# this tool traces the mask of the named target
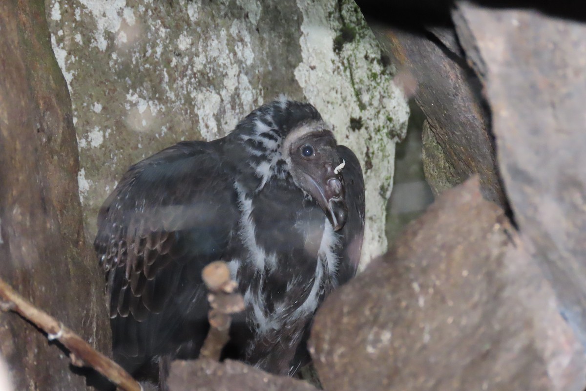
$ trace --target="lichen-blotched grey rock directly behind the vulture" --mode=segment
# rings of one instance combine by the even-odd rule
[[[313,103],[362,162],[363,260],[386,249],[384,207],[408,107],[351,0],[47,0],[69,84],[87,234],[128,166],[212,140],[284,93]]]

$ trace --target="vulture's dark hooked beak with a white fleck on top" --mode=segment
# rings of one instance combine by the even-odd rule
[[[333,229],[342,229],[348,216],[342,176],[328,175],[323,179],[315,179],[311,175],[307,177],[309,194],[318,202]]]

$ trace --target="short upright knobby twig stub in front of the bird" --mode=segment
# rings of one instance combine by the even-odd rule
[[[230,279],[230,270],[226,262],[210,263],[203,268],[202,278],[210,291],[207,300],[212,309],[207,314],[210,331],[199,355],[218,361],[224,345],[229,340],[232,322],[230,315],[244,310],[244,299],[241,294],[234,293],[236,283]]]

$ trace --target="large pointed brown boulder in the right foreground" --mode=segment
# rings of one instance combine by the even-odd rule
[[[328,297],[311,352],[326,390],[584,389],[554,293],[478,179]]]

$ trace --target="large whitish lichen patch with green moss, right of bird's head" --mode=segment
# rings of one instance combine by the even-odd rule
[[[407,102],[381,64],[380,47],[354,2],[297,4],[303,12],[303,61],[295,77],[364,171],[364,267],[387,249],[384,216],[393,186],[394,145],[407,129]]]

